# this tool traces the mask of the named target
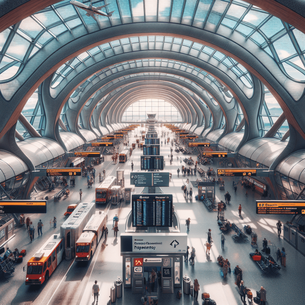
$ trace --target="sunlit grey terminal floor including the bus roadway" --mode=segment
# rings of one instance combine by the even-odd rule
[[[138,132],[139,133],[139,132]],[[133,133],[133,136],[135,133]],[[133,139],[130,139],[130,145]],[[164,142],[164,138],[163,138]],[[190,266],[189,263],[184,263],[183,274],[190,276],[192,280],[198,279],[200,285],[199,304],[201,304],[201,293],[209,292],[210,297],[216,301],[217,305],[235,305],[242,304],[237,286],[235,285],[235,275],[228,273],[226,279],[220,275],[220,267],[217,264],[217,257],[221,254],[224,258],[228,258],[231,263],[231,268],[236,265],[243,270],[243,280],[246,287],[250,288],[253,295],[256,295],[256,290],[260,286],[264,286],[267,290],[267,304],[304,304],[305,293],[304,286],[304,267],[305,257],[296,251],[292,246],[282,239],[282,235],[278,238],[276,222],[281,220],[286,222],[290,217],[278,215],[257,215],[255,211],[255,200],[261,199],[257,193],[249,192],[249,196],[245,196],[246,190],[238,185],[237,192],[234,192],[232,187],[233,178],[224,178],[225,191],[216,189],[216,196],[219,200],[224,200],[224,193],[229,191],[231,194],[231,204],[225,210],[225,218],[234,222],[243,228],[245,224],[256,231],[258,235],[259,250],[262,249],[262,240],[266,237],[275,244],[276,247],[286,249],[286,268],[279,271],[280,275],[268,274],[261,275],[262,272],[259,266],[249,257],[249,253],[253,252],[250,242],[234,242],[231,235],[232,232],[225,235],[226,241],[224,249],[221,249],[221,231],[217,225],[217,212],[210,212],[206,206],[195,200],[196,188],[193,187],[193,200],[186,200],[183,196],[181,186],[186,184],[186,179],[179,175],[177,177],[178,167],[181,170],[180,157],[185,158],[181,152],[177,154],[173,152],[174,162],[169,165],[168,154],[170,154],[170,145],[161,147],[161,155],[166,160],[165,170],[172,173],[169,187],[163,187],[164,193],[173,194],[175,212],[180,218],[181,232],[188,233],[188,246],[195,247],[196,258],[195,265]],[[115,175],[115,170],[125,169],[125,181],[129,180],[131,171],[131,160],[134,163],[134,171],[140,170],[140,156],[142,151],[135,149],[131,158],[125,164],[111,164],[111,157],[105,156],[105,162],[96,167],[96,172],[99,173],[106,168],[106,175]],[[179,160],[177,161],[177,155]],[[189,156],[187,156],[189,157]],[[196,156],[193,156],[196,159]],[[186,165],[182,161],[182,165]],[[200,166],[206,170],[207,166]],[[217,164],[210,165],[217,168]],[[181,174],[181,172],[180,172]],[[98,174],[97,174],[98,177]],[[189,177],[190,181],[200,177]],[[236,182],[236,179],[235,179]],[[35,232],[35,239],[30,243],[30,238],[26,228],[18,228],[16,236],[7,244],[10,249],[18,247],[19,249],[27,249],[27,256],[23,263],[16,265],[15,276],[9,279],[9,282],[0,283],[0,305],[7,304],[33,304],[33,305],[87,305],[92,304],[92,285],[95,280],[98,281],[100,287],[99,304],[106,304],[109,300],[110,287],[113,281],[118,277],[122,278],[122,257],[120,256],[120,233],[124,232],[125,221],[128,213],[131,210],[130,204],[122,203],[118,206],[97,206],[97,210],[108,211],[108,228],[109,234],[106,239],[102,238],[99,247],[96,250],[93,258],[88,263],[77,263],[75,261],[63,261],[54,271],[48,283],[41,287],[25,286],[26,272],[23,272],[23,266],[27,264],[27,260],[41,247],[51,234],[58,233],[59,227],[65,221],[63,213],[67,206],[71,203],[79,202],[79,188],[82,188],[82,202],[91,202],[94,200],[94,188],[99,183],[95,183],[93,188],[86,187],[86,179],[77,177],[76,187],[70,188],[70,196],[67,199],[61,199],[59,202],[54,202],[53,199],[48,200],[47,214],[33,214],[31,219],[34,224],[37,224],[39,219],[44,223],[43,236],[38,237]],[[190,187],[190,184],[188,185]],[[135,193],[140,193],[142,188],[135,188]],[[37,198],[38,199],[38,198]],[[238,215],[238,206],[242,205],[242,217]],[[119,234],[118,238],[114,239],[112,228],[112,219],[115,214],[118,214]],[[62,216],[61,216],[62,215]],[[52,228],[49,225],[49,220],[57,217],[57,228]],[[191,218],[190,230],[186,230],[185,219]],[[212,230],[213,246],[210,250],[210,256],[206,255],[204,246],[208,229]],[[283,232],[282,232],[283,234]],[[249,238],[250,239],[250,238]],[[272,251],[272,248],[271,248]],[[275,253],[271,253],[276,257]],[[193,304],[194,299],[190,296],[182,294],[180,300],[176,298],[178,289],[174,290],[174,294],[160,293],[159,304]],[[131,289],[123,289],[123,297],[117,299],[116,304],[137,305],[141,304],[140,295],[131,293]],[[247,298],[246,298],[247,300]],[[248,302],[247,302],[248,303]],[[195,302],[195,304],[197,304]]]

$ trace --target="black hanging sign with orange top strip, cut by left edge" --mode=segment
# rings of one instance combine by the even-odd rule
[[[47,213],[46,200],[2,200],[0,213]]]

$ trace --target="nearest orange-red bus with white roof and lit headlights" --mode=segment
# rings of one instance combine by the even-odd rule
[[[64,259],[64,239],[52,235],[27,262],[25,285],[41,285]]]

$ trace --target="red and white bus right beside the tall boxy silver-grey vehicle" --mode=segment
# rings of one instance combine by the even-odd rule
[[[104,234],[108,216],[102,211],[93,214],[76,241],[75,260],[90,260]]]

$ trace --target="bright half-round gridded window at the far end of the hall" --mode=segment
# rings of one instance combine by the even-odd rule
[[[124,111],[122,122],[146,120],[146,113],[156,113],[156,119],[162,122],[182,122],[178,109],[163,99],[140,99],[132,103]]]

